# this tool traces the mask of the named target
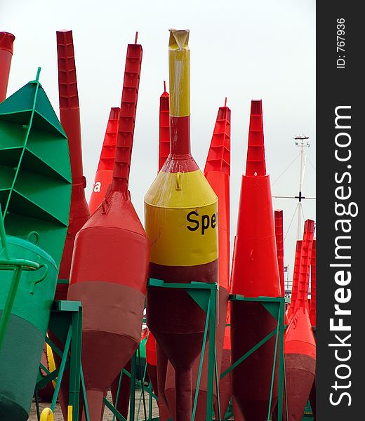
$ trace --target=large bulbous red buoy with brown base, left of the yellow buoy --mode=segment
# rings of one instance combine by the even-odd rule
[[[112,187],[77,234],[68,300],[83,305],[82,366],[90,419],[140,344],[150,244],[128,191],[142,46],[128,44]]]

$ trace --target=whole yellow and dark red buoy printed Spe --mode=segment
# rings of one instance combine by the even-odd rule
[[[218,281],[218,198],[190,152],[188,39],[189,31],[170,30],[170,154],[145,195],[150,277],[167,283]],[[175,368],[175,421],[191,420],[205,320],[185,290],[147,289],[147,325]]]

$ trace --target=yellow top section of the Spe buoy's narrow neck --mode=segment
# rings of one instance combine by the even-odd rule
[[[170,72],[170,115],[190,115],[190,48],[188,30],[170,29],[168,69]]]

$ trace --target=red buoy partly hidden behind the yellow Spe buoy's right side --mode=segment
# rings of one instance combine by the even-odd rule
[[[216,353],[218,377],[223,354],[223,340],[225,335],[225,321],[227,316],[228,291],[230,283],[230,127],[231,110],[225,104],[218,109],[217,118],[211,139],[211,145],[208,150],[204,175],[206,180],[218,196],[218,272],[219,272],[219,314],[218,326],[216,331]],[[230,351],[228,350],[228,353]],[[192,368],[192,402],[197,385],[199,373],[199,362],[197,358]],[[197,412],[195,420],[205,420],[206,417],[206,394],[208,374],[208,344],[204,352],[201,380],[199,385],[199,395],[197,401]],[[166,398],[169,408],[175,406],[175,370],[171,364],[168,364],[166,387]],[[217,392],[214,390],[215,403]]]

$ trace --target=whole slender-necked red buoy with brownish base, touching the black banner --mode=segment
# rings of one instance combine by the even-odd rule
[[[302,420],[316,367],[316,343],[307,310],[313,235],[314,221],[306,220],[300,253],[298,296],[284,342],[287,419],[293,421]]]

